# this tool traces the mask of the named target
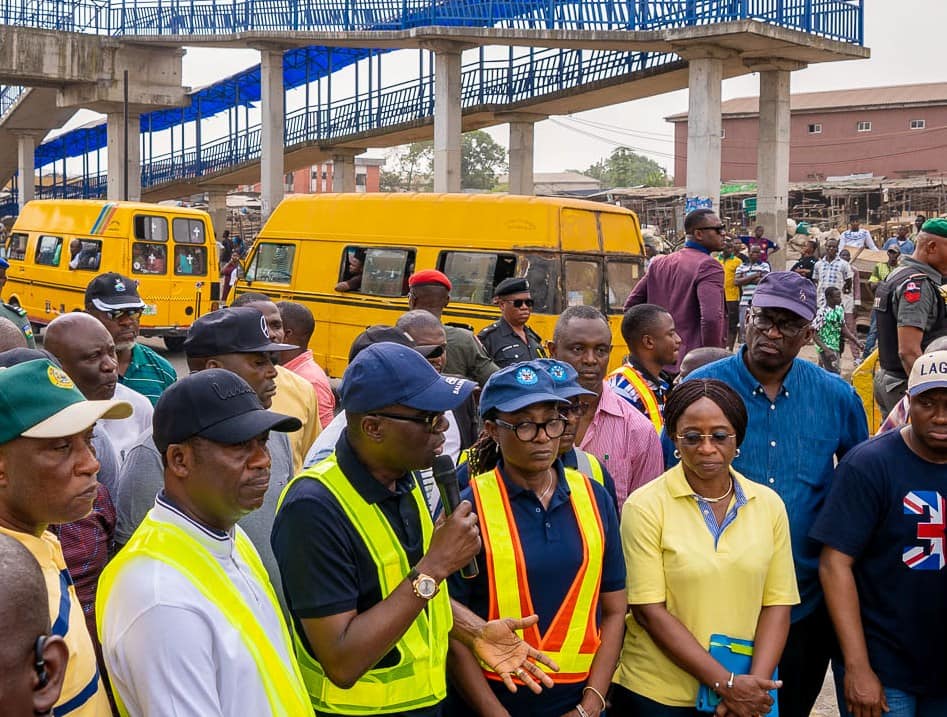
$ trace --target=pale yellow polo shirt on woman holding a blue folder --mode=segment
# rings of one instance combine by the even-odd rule
[[[782,499],[733,475],[746,503],[716,547],[680,464],[632,493],[621,514],[628,604],[665,603],[704,647],[715,633],[752,640],[763,606],[799,602]],[[626,623],[616,681],[661,704],[693,707],[697,680],[671,661],[630,612]]]

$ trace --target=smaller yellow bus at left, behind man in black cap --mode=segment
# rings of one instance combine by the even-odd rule
[[[28,202],[6,245],[7,298],[43,326],[80,311],[86,285],[115,271],[138,281],[143,336],[177,349],[191,322],[216,308],[217,244],[210,216],[138,202]],[[213,297],[212,297],[213,293]]]

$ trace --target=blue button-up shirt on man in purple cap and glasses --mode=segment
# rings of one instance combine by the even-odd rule
[[[802,596],[792,613],[798,621],[822,602],[820,547],[808,538],[809,530],[832,483],[836,458],[868,438],[868,420],[852,386],[804,359],[792,362],[776,399],[770,400],[747,368],[745,353],[743,348],[695,369],[684,380],[720,379],[746,405],[746,438],[733,467],[775,490],[786,504]]]

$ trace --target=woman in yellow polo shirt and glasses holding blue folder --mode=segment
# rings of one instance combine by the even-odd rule
[[[680,384],[664,420],[680,463],[622,510],[630,613],[612,706],[629,717],[694,715],[703,684],[719,697],[718,714],[766,714],[799,602],[786,509],[730,465],[747,413],[725,383]],[[753,642],[748,673],[710,655],[715,634]]]

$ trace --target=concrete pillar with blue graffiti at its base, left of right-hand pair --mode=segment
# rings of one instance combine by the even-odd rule
[[[720,56],[689,57],[687,198],[720,204]]]

